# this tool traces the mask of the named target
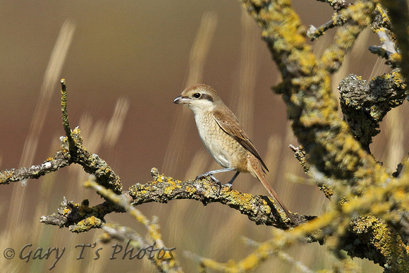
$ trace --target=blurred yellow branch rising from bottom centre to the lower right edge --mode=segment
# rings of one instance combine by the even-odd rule
[[[391,181],[386,187],[371,188],[360,198],[295,229],[274,229],[271,240],[260,244],[253,253],[238,262],[224,264],[198,257],[195,260],[200,260],[202,266],[212,269],[254,269],[268,257],[267,253],[276,253],[300,241],[318,241],[325,243],[329,250],[341,258],[341,265],[336,265],[336,268],[350,266],[340,252],[346,250],[350,257],[365,257],[378,263],[385,267],[385,272],[408,272],[408,221],[405,224],[401,220],[393,221],[408,219],[409,171],[399,179]],[[384,198],[385,196],[388,198]],[[377,217],[384,217],[386,220]],[[401,226],[397,227],[396,224]]]

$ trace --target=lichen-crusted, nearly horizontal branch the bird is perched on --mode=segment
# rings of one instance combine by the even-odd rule
[[[281,207],[266,196],[240,193],[227,186],[220,188],[218,183],[206,178],[195,181],[174,180],[159,174],[156,168],[152,169],[152,176],[154,181],[143,185],[137,183],[120,195],[89,180],[85,185],[97,190],[97,193],[107,200],[106,202],[89,207],[87,200],[82,204],[64,200],[57,213],[43,216],[40,221],[60,227],[66,226],[72,232],[83,232],[101,228],[106,214],[128,211],[147,227],[152,238],[160,240],[160,233],[157,233],[154,226],[150,226],[149,221],[139,210],[135,209],[135,206],[148,202],[166,203],[171,200],[191,199],[199,200],[204,205],[210,202],[228,205],[247,215],[256,224],[275,226],[279,229],[288,229],[293,226],[293,222],[286,217],[285,212],[281,211]],[[303,224],[315,218],[315,216],[300,214],[293,214],[293,217],[296,219],[295,224]]]

